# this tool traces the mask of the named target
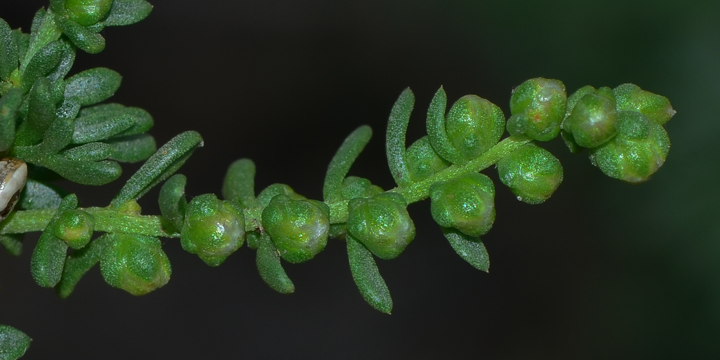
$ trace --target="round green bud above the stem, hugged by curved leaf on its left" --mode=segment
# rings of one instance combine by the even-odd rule
[[[498,143],[505,130],[505,115],[492,102],[465,95],[451,107],[445,130],[455,150],[472,160]]]

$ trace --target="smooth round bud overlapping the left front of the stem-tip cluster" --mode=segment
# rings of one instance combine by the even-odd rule
[[[562,123],[577,145],[595,148],[618,132],[613,91],[602,87],[582,96]]]

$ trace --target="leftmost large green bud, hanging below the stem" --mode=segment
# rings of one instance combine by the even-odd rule
[[[102,277],[112,287],[144,295],[168,283],[172,269],[158,238],[113,233],[100,258]]]

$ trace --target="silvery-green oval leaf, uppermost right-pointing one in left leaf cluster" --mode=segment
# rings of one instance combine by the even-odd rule
[[[109,68],[91,68],[66,80],[65,97],[86,106],[104,101],[118,88],[122,76]]]

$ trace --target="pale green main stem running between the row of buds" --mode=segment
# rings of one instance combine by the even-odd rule
[[[505,138],[482,156],[463,166],[450,166],[438,174],[423,181],[408,186],[397,186],[388,192],[397,192],[408,201],[408,204],[418,202],[428,197],[430,186],[438,181],[454,179],[464,174],[482,171],[497,163],[508,153],[528,145],[531,140],[521,138]],[[330,207],[330,223],[338,224],[348,220],[348,202],[346,200],[325,202]],[[110,207],[88,207],[82,209],[95,218],[95,230],[105,233],[128,233],[163,238],[179,238],[180,234],[165,217],[160,215],[139,215],[121,212]],[[55,209],[16,211],[6,220],[0,222],[0,234],[32,233],[42,231],[55,216]],[[251,231],[261,224],[261,207],[251,207],[245,210],[246,230]]]

